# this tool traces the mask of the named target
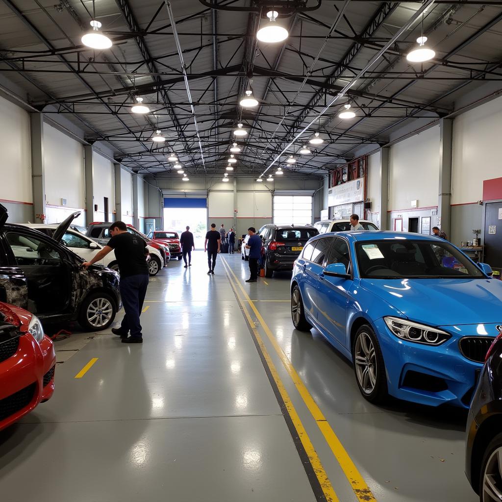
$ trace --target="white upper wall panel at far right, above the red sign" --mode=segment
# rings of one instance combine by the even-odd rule
[[[453,120],[452,204],[482,199],[483,180],[502,177],[502,97]]]

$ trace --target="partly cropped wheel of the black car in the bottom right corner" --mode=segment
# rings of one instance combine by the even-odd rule
[[[480,502],[502,500],[502,433],[486,447],[479,474]]]

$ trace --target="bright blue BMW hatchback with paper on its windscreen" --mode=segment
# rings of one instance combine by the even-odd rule
[[[502,281],[448,241],[416,233],[313,237],[295,262],[293,324],[353,362],[370,402],[467,408],[502,326]]]

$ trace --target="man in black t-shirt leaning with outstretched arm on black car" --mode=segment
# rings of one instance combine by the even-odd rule
[[[124,315],[119,328],[112,328],[112,333],[120,335],[122,343],[143,343],[140,315],[148,287],[148,264],[146,261],[146,242],[136,233],[129,233],[123,221],[110,225],[111,239],[90,262],[87,268],[102,260],[110,251],[115,250],[115,258],[120,272],[120,296]],[[131,336],[128,338],[128,333]]]

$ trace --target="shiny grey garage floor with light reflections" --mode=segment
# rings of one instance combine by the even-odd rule
[[[173,262],[151,280],[143,345],[97,334],[57,366],[51,401],[0,433],[2,500],[316,500],[251,323],[333,500],[476,500],[463,473],[464,411],[368,404],[350,364],[315,330],[293,329],[291,274],[245,284],[239,254],[221,255],[214,276],[201,252],[193,264]],[[293,382],[294,370],[303,384]],[[325,439],[326,426],[341,447]],[[352,489],[351,465],[369,495]]]

